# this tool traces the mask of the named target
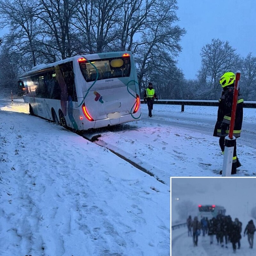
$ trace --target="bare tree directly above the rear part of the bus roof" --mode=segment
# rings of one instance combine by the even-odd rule
[[[76,21],[81,42],[87,43],[89,53],[113,51],[117,38],[116,24],[121,20],[124,0],[79,0]]]

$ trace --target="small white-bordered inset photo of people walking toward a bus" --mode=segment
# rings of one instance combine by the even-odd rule
[[[254,256],[255,195],[255,178],[171,178],[171,256]]]

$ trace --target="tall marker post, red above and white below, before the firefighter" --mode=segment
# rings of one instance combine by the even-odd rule
[[[235,125],[235,117],[236,117],[236,104],[237,104],[240,75],[241,75],[241,71],[237,70],[232,111],[231,111],[231,120],[229,125],[229,133],[228,133],[228,136],[225,137],[225,150],[224,150],[224,160],[223,160],[223,167],[222,167],[222,176],[224,177],[231,176],[233,153],[234,153],[234,147],[236,144],[236,137],[233,136],[233,132],[234,132],[234,125]]]

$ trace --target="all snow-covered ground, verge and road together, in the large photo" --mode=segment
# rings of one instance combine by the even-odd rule
[[[142,104],[91,142],[22,101],[0,100],[0,255],[170,255],[170,176],[220,176],[217,108],[156,104],[150,118]],[[244,109],[234,176],[256,173],[255,117]]]

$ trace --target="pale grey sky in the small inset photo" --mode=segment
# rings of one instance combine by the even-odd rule
[[[252,207],[256,206],[252,196],[255,194],[255,178],[172,178],[172,206],[187,200],[196,205],[221,205],[232,219],[248,221]]]

